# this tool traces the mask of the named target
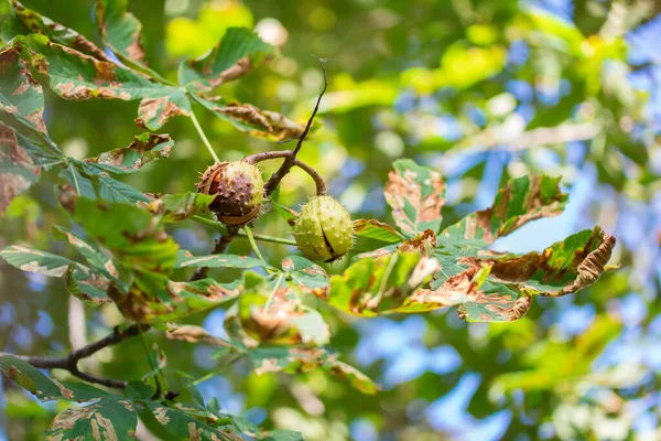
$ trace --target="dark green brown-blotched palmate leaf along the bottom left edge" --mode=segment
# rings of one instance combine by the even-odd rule
[[[145,388],[140,381],[131,381],[127,396],[123,396],[85,383],[57,381],[17,357],[0,356],[0,370],[42,401],[90,401],[57,415],[46,433],[51,440],[133,440],[138,416],[144,421],[147,413],[149,421],[161,424],[158,428],[165,431],[167,439],[234,441],[256,435],[260,440],[301,439],[296,432],[267,432],[240,418],[235,420],[231,416],[216,415],[206,409],[204,402],[169,407],[153,401],[148,394],[153,389]]]

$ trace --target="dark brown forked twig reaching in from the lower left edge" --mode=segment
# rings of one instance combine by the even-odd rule
[[[0,353],[0,356],[12,356],[15,358],[20,358],[23,362],[31,364],[34,367],[39,367],[42,369],[64,369],[68,370],[69,374],[84,379],[85,381],[96,383],[107,387],[113,387],[118,389],[123,389],[127,387],[127,381],[121,379],[113,378],[101,378],[91,374],[87,374],[80,372],[78,369],[78,362],[83,358],[87,358],[97,352],[108,347],[113,346],[122,341],[133,337],[140,333],[141,330],[148,330],[149,325],[145,324],[134,324],[127,327],[124,331],[120,331],[119,327],[115,329],[112,334],[106,335],[104,338],[98,340],[94,343],[90,343],[86,346],[80,347],[79,349],[75,349],[68,353],[68,355],[64,357],[45,357],[45,356],[29,356],[29,355],[13,355],[13,354],[4,354]]]

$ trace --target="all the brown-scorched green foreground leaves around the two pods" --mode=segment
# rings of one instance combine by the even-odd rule
[[[0,50],[0,110],[20,128],[0,123],[0,208],[35,183],[42,170],[58,168],[63,184],[56,189],[57,197],[85,235],[65,227],[58,232],[85,262],[22,245],[0,255],[24,271],[62,278],[68,292],[90,306],[112,303],[127,320],[151,324],[171,338],[213,343],[223,359],[247,356],[258,374],[318,368],[373,394],[378,387],[371,379],[323,347],[329,342],[329,329],[305,304],[305,295],[367,318],[455,306],[466,320],[501,322],[522,316],[532,295],[576,292],[604,271],[615,239],[598,227],[543,252],[489,249],[497,238],[528,222],[562,212],[567,197],[559,179],[512,180],[491,207],[442,228],[445,183],[436,171],[410,160],[394,163],[384,189],[399,230],[376,219],[356,220],[356,234],[370,250],[356,255],[340,275],[328,275],[327,268],[300,256],[275,267],[261,258],[194,256],[181,249],[165,224],[204,212],[213,196],[148,195],[111,176],[167,158],[174,141],[167,135],[145,132],[129,147],[97,158],[68,158],[48,137],[43,90],[35,76],[43,76],[65,99],[139,99],[137,123],[149,130],[160,129],[174,116],[193,117],[192,103],[197,103],[250,135],[282,140],[299,135],[301,127],[282,115],[210,96],[216,86],[246,75],[273,50],[248,30],[230,29],[210,53],[183,63],[174,85],[147,67],[141,25],[126,11],[126,1],[99,0],[96,17],[104,44],[120,63],[83,35],[17,1],[2,28],[3,39],[10,41]],[[291,220],[291,212],[277,212]],[[243,275],[230,283],[173,277],[175,269],[201,267],[242,269]],[[228,340],[173,324],[230,304]],[[155,391],[142,381],[130,383],[126,395],[117,395],[48,379],[19,358],[3,357],[0,363],[6,375],[40,399],[95,401],[58,416],[52,427],[54,439],[98,438],[106,432],[123,437],[134,430],[138,417],[180,439],[232,439],[238,433],[293,437],[263,432],[197,398],[186,405],[154,400]]]

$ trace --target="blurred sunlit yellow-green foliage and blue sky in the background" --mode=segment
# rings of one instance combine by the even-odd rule
[[[24,3],[96,35],[90,0]],[[173,79],[182,58],[205,53],[227,28],[254,28],[281,54],[219,92],[301,122],[323,86],[311,55],[328,58],[323,125],[300,158],[355,217],[389,216],[382,186],[391,162],[413,158],[447,180],[444,225],[489,205],[510,178],[563,176],[565,213],[529,224],[495,249],[541,250],[594,224],[619,240],[611,260],[618,271],[577,295],[540,299],[511,324],[467,324],[446,310],[354,319],[318,302],[334,335],[329,347],[382,385],[375,396],[318,372],[256,376],[239,363],[201,385],[205,398],[254,422],[300,430],[306,440],[661,438],[659,2],[142,0],[130,9],[143,23],[151,67]],[[133,115],[134,103],[65,101],[46,93],[48,131],[74,158],[126,146],[140,132]],[[225,159],[269,149],[212,115],[201,114],[201,122]],[[128,182],[143,192],[193,191],[212,158],[187,118],[162,131],[176,141],[170,159]],[[312,195],[307,180],[290,174],[281,202]],[[0,248],[29,239],[68,252],[51,234],[65,218],[52,182],[42,180],[9,207]],[[272,214],[260,229],[288,234]],[[212,230],[193,223],[171,233],[199,254],[213,240]],[[229,251],[250,249],[235,240]],[[263,251],[279,261],[292,249],[264,244]],[[1,265],[3,352],[65,349],[121,320],[111,309],[84,309],[57,280]],[[223,336],[223,315],[188,321]],[[161,344],[178,369],[199,376],[216,367],[212,347]],[[137,378],[149,369],[136,356],[139,345],[126,342],[90,363],[108,376]],[[3,387],[0,439],[41,439],[64,405]]]

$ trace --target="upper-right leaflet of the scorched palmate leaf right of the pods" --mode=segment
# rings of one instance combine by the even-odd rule
[[[560,178],[521,176],[500,189],[494,205],[475,212],[438,235],[446,246],[485,247],[531,220],[560,215],[567,195],[559,186]]]

